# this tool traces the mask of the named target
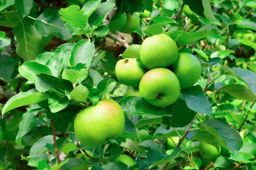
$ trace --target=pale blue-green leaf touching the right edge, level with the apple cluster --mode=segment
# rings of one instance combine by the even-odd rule
[[[244,82],[256,95],[256,73],[243,68],[229,68],[227,65],[221,65],[221,74],[228,74]]]

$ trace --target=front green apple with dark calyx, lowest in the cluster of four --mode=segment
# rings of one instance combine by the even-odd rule
[[[165,107],[180,96],[180,84],[175,74],[167,68],[155,68],[140,80],[140,95],[151,105]]]

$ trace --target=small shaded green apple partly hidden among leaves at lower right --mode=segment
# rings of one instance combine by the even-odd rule
[[[217,150],[216,147],[203,141],[200,141],[199,149],[201,150],[203,156],[208,159],[216,159],[221,154],[221,147],[219,150]]]

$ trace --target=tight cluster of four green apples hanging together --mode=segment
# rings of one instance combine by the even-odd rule
[[[139,87],[141,97],[156,107],[174,103],[180,88],[192,87],[201,76],[201,64],[190,53],[178,53],[166,34],[146,38],[140,48],[140,65],[134,58],[116,63],[116,77],[128,86]]]

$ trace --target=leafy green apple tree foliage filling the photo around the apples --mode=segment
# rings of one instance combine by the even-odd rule
[[[111,33],[125,11],[140,26]],[[140,44],[155,34],[202,65],[165,108],[128,96],[114,72],[121,58],[141,64]],[[255,36],[254,0],[1,0],[0,170],[256,170]],[[74,118],[105,98],[121,105],[125,130],[85,147]],[[200,142],[218,157],[205,160]]]

